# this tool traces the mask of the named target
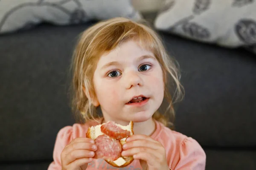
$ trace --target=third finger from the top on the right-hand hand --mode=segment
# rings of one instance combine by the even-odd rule
[[[133,147],[128,150],[123,150],[121,154],[122,156],[133,156],[140,152],[146,152],[148,154],[155,155],[155,156],[160,155],[160,153],[158,153],[156,150],[151,149],[149,147]]]

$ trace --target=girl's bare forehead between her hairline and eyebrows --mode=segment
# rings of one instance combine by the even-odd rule
[[[144,55],[151,55],[154,57],[154,54],[151,51],[142,48],[136,41],[129,40],[121,43],[112,51],[102,55],[98,65],[104,65],[106,62],[112,61],[129,62]]]

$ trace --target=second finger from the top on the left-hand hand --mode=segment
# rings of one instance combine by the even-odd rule
[[[96,151],[97,145],[88,143],[88,142],[71,143],[67,147],[64,148],[64,154],[69,153],[71,150],[80,150],[80,149]]]

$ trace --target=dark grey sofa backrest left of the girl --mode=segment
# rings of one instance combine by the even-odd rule
[[[79,32],[40,26],[0,37],[0,160],[51,159],[56,134],[75,121],[68,69]]]

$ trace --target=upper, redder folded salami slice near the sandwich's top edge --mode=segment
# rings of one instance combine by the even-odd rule
[[[131,136],[131,132],[128,130],[123,130],[121,127],[115,125],[114,122],[107,122],[100,127],[102,133],[110,136],[114,139],[120,140]]]

